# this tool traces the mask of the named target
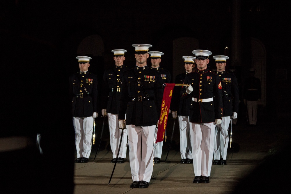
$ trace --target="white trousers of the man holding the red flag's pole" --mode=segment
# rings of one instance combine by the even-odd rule
[[[213,159],[215,123],[192,123],[191,145],[195,176],[209,177]]]

